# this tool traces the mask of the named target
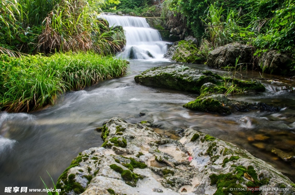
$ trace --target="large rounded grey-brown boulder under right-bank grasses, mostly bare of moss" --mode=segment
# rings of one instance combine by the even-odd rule
[[[252,56],[251,46],[240,43],[230,43],[213,49],[208,54],[207,65],[217,68],[235,66],[236,59],[238,58],[239,61],[237,64],[245,63],[245,65],[248,66],[252,62]]]

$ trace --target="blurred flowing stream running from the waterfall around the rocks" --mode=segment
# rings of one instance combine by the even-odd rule
[[[122,18],[120,24],[124,21],[127,24],[128,19],[137,25],[137,19],[131,16],[112,17],[117,17],[114,20],[116,22]],[[112,18],[106,16],[106,19],[112,24]],[[138,20],[145,24],[142,18]],[[156,32],[148,26],[145,30],[146,33]],[[129,30],[127,33],[130,33]],[[100,82],[85,90],[68,92],[58,98],[55,105],[40,111],[0,113],[0,194],[4,192],[4,187],[41,189],[43,184],[40,176],[52,187],[46,171],[56,182],[79,152],[101,146],[103,141],[100,133],[94,129],[114,116],[122,117],[130,123],[149,120],[161,125],[155,129],[156,132],[173,139],[179,139],[176,133],[178,128],[195,128],[246,149],[295,180],[294,164],[284,162],[271,153],[272,148],[278,148],[295,155],[295,101],[293,90],[290,90],[295,87],[294,81],[263,74],[264,78],[280,80],[261,80],[266,86],[265,92],[230,96],[248,102],[278,104],[283,108],[278,113],[239,112],[223,116],[191,111],[182,105],[194,100],[197,94],[145,87],[135,83],[134,76],[140,72],[173,63],[162,59],[165,42],[157,39],[158,41],[133,43],[131,38],[127,36],[124,52],[129,46],[136,45],[139,49],[148,50],[156,56],[155,59],[147,58],[145,53],[140,52],[140,56],[144,56],[146,60],[130,60],[129,73],[123,77]],[[154,47],[159,50],[153,50]],[[211,70],[219,75],[226,73],[224,70],[210,69],[206,65],[186,66]],[[260,77],[259,72],[254,71],[240,73],[243,76]],[[146,115],[140,116],[140,112]]]

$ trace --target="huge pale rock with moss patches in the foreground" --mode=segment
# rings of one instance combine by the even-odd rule
[[[106,141],[116,136],[118,126],[124,128],[126,149],[134,155],[119,156],[112,148],[102,147],[79,153],[58,179],[61,195],[237,194],[235,188],[247,192],[253,186],[288,188],[259,191],[263,195],[295,193],[294,184],[266,162],[197,130],[184,130],[176,141],[161,138],[150,128],[152,123],[130,124],[112,118],[104,127]],[[152,166],[155,160],[162,166]]]

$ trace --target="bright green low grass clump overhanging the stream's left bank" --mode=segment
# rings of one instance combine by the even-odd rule
[[[0,59],[0,107],[9,112],[29,112],[54,104],[57,95],[121,76],[128,67],[125,60],[93,52],[50,57],[1,55]]]

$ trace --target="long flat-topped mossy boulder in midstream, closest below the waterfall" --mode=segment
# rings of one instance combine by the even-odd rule
[[[189,92],[200,92],[204,83],[221,85],[222,77],[211,71],[195,70],[181,65],[150,68],[135,76],[135,82],[155,87],[164,87]]]

